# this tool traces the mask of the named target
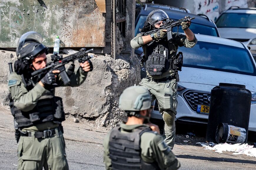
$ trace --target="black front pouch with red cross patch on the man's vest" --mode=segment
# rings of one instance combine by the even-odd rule
[[[170,63],[164,54],[151,54],[146,62],[146,70],[150,75],[162,75],[168,71]]]

